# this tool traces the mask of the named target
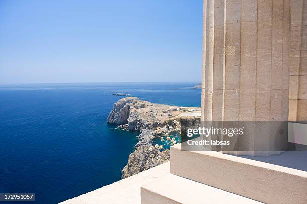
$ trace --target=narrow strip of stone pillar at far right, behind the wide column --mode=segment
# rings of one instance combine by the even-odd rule
[[[307,123],[307,0],[291,0],[289,120]]]

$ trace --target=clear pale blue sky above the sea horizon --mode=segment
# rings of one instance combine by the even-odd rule
[[[202,0],[0,0],[0,84],[200,81]]]

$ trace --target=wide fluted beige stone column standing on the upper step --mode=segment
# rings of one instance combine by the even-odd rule
[[[288,120],[289,18],[290,0],[204,0],[202,121]],[[235,154],[287,145],[264,129],[247,128],[251,151]]]

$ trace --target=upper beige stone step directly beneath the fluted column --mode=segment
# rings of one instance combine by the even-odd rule
[[[261,159],[265,162],[259,161]],[[307,172],[297,169],[303,169],[306,161],[306,152],[292,159],[287,152],[248,159],[216,151],[182,151],[181,144],[177,144],[171,148],[170,171],[174,175],[264,203],[305,204]],[[300,162],[301,165],[293,169],[275,165],[278,162],[286,166],[291,166],[291,162]]]

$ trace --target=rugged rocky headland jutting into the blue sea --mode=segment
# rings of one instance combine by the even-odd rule
[[[135,175],[169,160],[170,150],[152,144],[153,140],[175,131],[180,131],[180,114],[200,111],[198,107],[178,107],[150,103],[136,97],[118,100],[110,112],[107,122],[119,128],[139,132],[138,143],[122,170],[122,178]],[[173,142],[173,141],[172,141]]]

